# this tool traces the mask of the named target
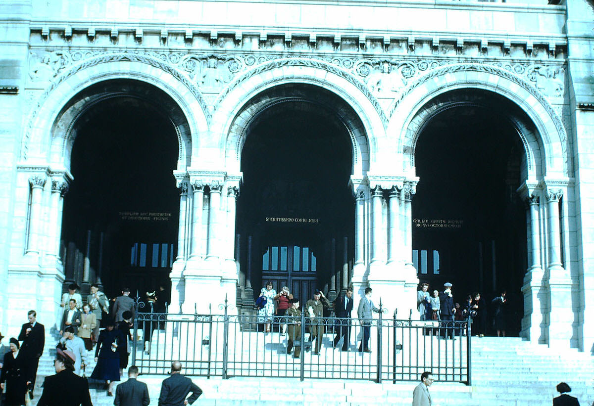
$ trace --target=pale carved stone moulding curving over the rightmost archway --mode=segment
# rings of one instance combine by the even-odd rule
[[[414,154],[417,128],[413,120],[432,99],[451,90],[480,89],[496,93],[510,100],[523,110],[536,128],[534,132],[523,132],[522,141],[526,148],[526,162],[529,177],[539,175],[566,176],[567,159],[565,141],[567,134],[561,119],[551,104],[535,87],[522,78],[495,66],[459,64],[443,66],[428,72],[407,87],[394,100],[390,108],[388,134],[397,137],[397,150],[405,156]],[[404,157],[409,164],[411,157]],[[540,158],[540,161],[538,161]],[[409,167],[405,170],[410,170]]]

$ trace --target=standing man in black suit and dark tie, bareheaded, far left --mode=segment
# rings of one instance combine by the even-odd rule
[[[39,358],[43,354],[43,345],[45,345],[45,328],[43,328],[42,324],[37,323],[37,312],[35,310],[29,310],[27,318],[29,323],[24,323],[21,327],[18,341],[23,341],[20,352],[25,359],[27,383],[30,388],[33,388],[37,377]]]

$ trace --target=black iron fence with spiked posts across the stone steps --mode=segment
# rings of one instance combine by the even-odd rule
[[[470,385],[469,321],[138,313],[132,364],[165,374],[182,361],[189,376],[416,381],[425,370],[440,381]],[[381,308],[381,307],[380,307]],[[271,332],[264,331],[270,322]],[[346,340],[346,344],[345,344]],[[368,342],[368,344],[365,344]]]

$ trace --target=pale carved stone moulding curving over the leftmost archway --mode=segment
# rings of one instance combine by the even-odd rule
[[[173,100],[184,115],[188,127],[178,131],[181,138],[181,163],[185,166],[186,158],[193,157],[193,151],[197,150],[198,134],[208,132],[210,113],[200,91],[184,74],[165,62],[128,53],[87,59],[56,78],[31,109],[29,126],[21,145],[21,160],[33,158],[47,160],[52,166],[64,166],[65,137],[69,135],[68,131],[53,131],[56,124],[68,109],[71,110],[69,115],[80,116],[80,112],[72,111],[72,106],[65,109],[77,94],[91,85],[109,80],[131,80],[153,85]],[[115,96],[114,93],[112,97]],[[78,107],[83,110],[88,106]],[[70,125],[68,123],[66,128]],[[191,150],[188,150],[189,146]]]

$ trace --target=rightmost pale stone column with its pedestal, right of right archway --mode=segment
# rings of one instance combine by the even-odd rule
[[[549,242],[549,345],[569,348],[573,335],[573,298],[571,277],[561,264],[561,236],[559,226],[560,188],[547,188],[548,242]]]

